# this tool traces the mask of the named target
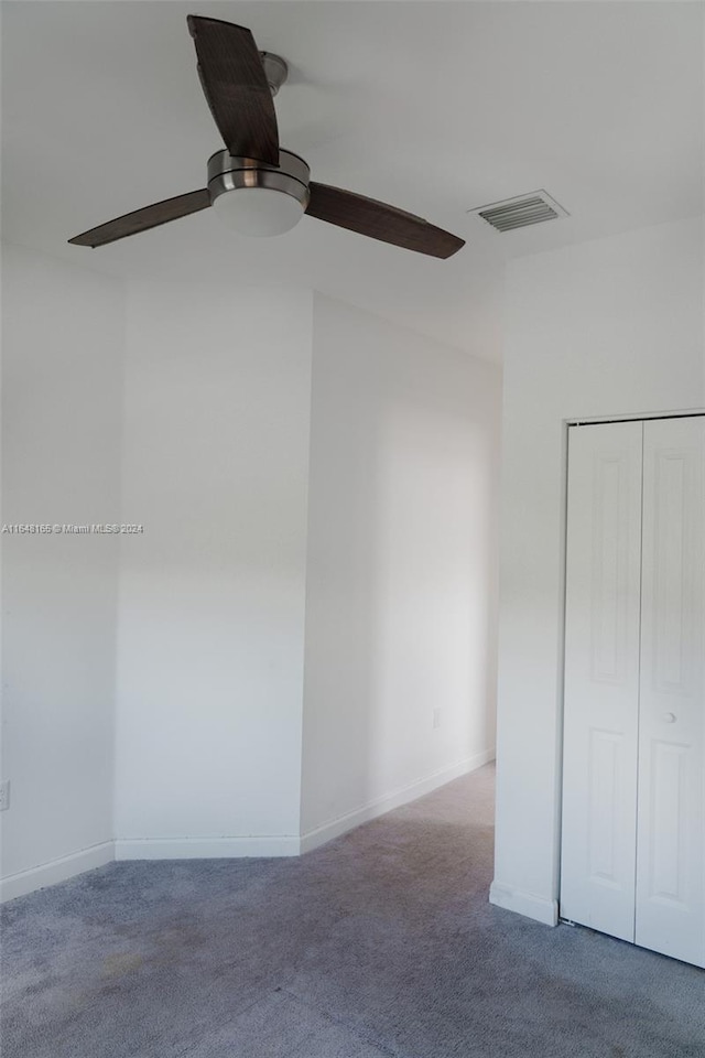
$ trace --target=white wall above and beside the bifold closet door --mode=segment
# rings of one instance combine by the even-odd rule
[[[495,879],[544,920],[558,871],[562,421],[703,406],[703,281],[699,220],[508,271]]]

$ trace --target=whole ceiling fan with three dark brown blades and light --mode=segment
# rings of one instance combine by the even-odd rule
[[[284,60],[259,52],[241,25],[194,14],[187,22],[200,85],[226,144],[208,159],[207,187],[135,209],[69,242],[105,246],[214,206],[247,235],[281,235],[305,213],[431,257],[448,258],[465,245],[412,213],[312,181],[303,158],[279,145],[272,97],[286,79]]]

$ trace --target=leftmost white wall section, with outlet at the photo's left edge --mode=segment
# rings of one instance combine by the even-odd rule
[[[122,284],[14,246],[2,264],[3,523],[118,522]],[[52,532],[0,542],[8,876],[112,838],[119,541]]]

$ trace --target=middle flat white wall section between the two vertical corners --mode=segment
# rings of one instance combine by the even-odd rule
[[[118,854],[299,834],[311,319],[299,290],[129,288]]]

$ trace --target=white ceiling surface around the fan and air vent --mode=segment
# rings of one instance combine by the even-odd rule
[[[499,356],[507,258],[703,210],[702,3],[7,2],[3,238],[126,277],[301,283]],[[247,239],[212,210],[101,249],[66,239],[205,186],[223,145],[186,14],[281,53],[282,145],[313,179],[467,239],[447,261],[306,218]],[[567,219],[499,235],[467,210],[543,187]]]

